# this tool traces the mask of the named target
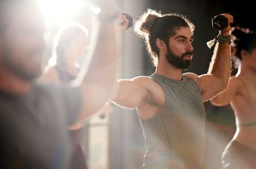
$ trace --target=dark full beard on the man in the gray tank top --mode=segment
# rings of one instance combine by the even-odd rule
[[[167,48],[167,54],[165,55],[167,61],[178,69],[187,70],[191,65],[191,60],[184,60],[185,56],[192,55],[193,52],[186,52],[182,56],[177,56],[171,52],[170,48]]]

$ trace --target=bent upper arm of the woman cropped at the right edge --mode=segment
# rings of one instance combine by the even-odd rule
[[[218,95],[214,96],[210,101],[212,105],[216,106],[223,106],[228,105],[231,100],[233,100],[234,96],[238,91],[238,81],[235,78],[231,78],[229,80],[229,85],[227,89],[223,92],[219,93]]]

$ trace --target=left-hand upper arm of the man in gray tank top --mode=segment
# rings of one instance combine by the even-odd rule
[[[113,100],[117,105],[134,109],[139,107],[143,100],[147,98],[147,90],[139,81],[132,80],[119,80],[118,81],[117,96]]]

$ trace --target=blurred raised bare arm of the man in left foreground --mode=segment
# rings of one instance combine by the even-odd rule
[[[101,4],[104,7],[104,17],[118,16],[115,10],[111,10],[109,3]],[[107,11],[106,11],[107,10]],[[103,18],[104,19],[104,18]],[[103,20],[101,18],[101,20]],[[116,20],[104,20],[100,25],[98,41],[89,68],[83,77],[79,87],[83,95],[83,104],[78,121],[93,115],[104,104],[115,96],[117,91],[117,72],[119,64],[119,44],[117,36],[118,24]]]

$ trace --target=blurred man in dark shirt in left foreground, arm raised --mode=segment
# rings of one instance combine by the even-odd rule
[[[94,115],[116,92],[118,12],[111,4],[99,3],[102,24],[86,74],[70,85],[51,85],[37,81],[45,50],[38,4],[0,1],[0,168],[70,168],[67,128]]]

